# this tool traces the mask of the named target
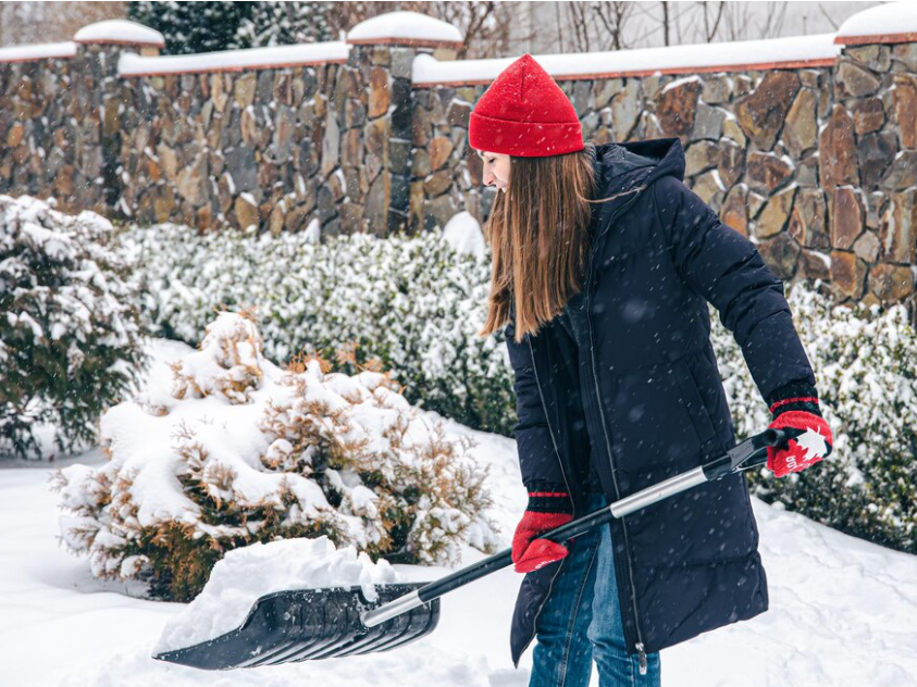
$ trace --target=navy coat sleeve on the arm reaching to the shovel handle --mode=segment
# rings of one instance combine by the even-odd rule
[[[814,389],[815,375],[793,325],[783,282],[755,245],[723,224],[680,179],[665,176],[654,187],[677,271],[719,311],[765,401],[770,404],[786,388]]]

